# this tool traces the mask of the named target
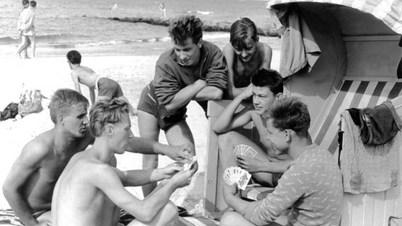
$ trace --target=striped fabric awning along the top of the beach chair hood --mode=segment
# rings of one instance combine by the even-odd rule
[[[292,2],[309,2],[306,0],[270,0],[267,8],[277,4]],[[360,11],[370,13],[398,34],[402,34],[402,1],[401,0],[311,0],[314,3],[339,4],[356,8]]]

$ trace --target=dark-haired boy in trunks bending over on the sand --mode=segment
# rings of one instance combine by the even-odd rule
[[[95,89],[98,90],[98,100],[110,100],[113,98],[121,98],[129,103],[130,112],[134,115],[137,114],[136,110],[130,105],[130,102],[124,96],[122,88],[119,83],[113,79],[104,76],[98,76],[92,69],[81,66],[81,54],[76,50],[71,50],[67,53],[67,62],[69,63],[71,71],[71,78],[74,82],[76,91],[81,93],[81,84],[88,86],[89,97],[91,104],[95,104]]]

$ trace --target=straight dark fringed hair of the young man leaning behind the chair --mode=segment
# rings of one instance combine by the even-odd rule
[[[235,49],[246,49],[248,42],[257,42],[257,28],[249,18],[240,18],[230,27],[229,42]]]

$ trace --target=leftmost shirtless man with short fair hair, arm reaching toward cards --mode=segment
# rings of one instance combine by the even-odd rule
[[[54,128],[28,142],[8,172],[3,194],[24,225],[49,225],[54,185],[67,162],[94,138],[88,131],[88,100],[74,90],[57,90],[50,101]],[[189,158],[190,147],[168,146],[144,138],[130,139],[130,152]]]

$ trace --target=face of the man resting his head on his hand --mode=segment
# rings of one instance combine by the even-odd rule
[[[272,93],[268,86],[260,87],[253,85],[253,105],[255,113],[262,115],[268,111],[276,100],[276,95]]]

